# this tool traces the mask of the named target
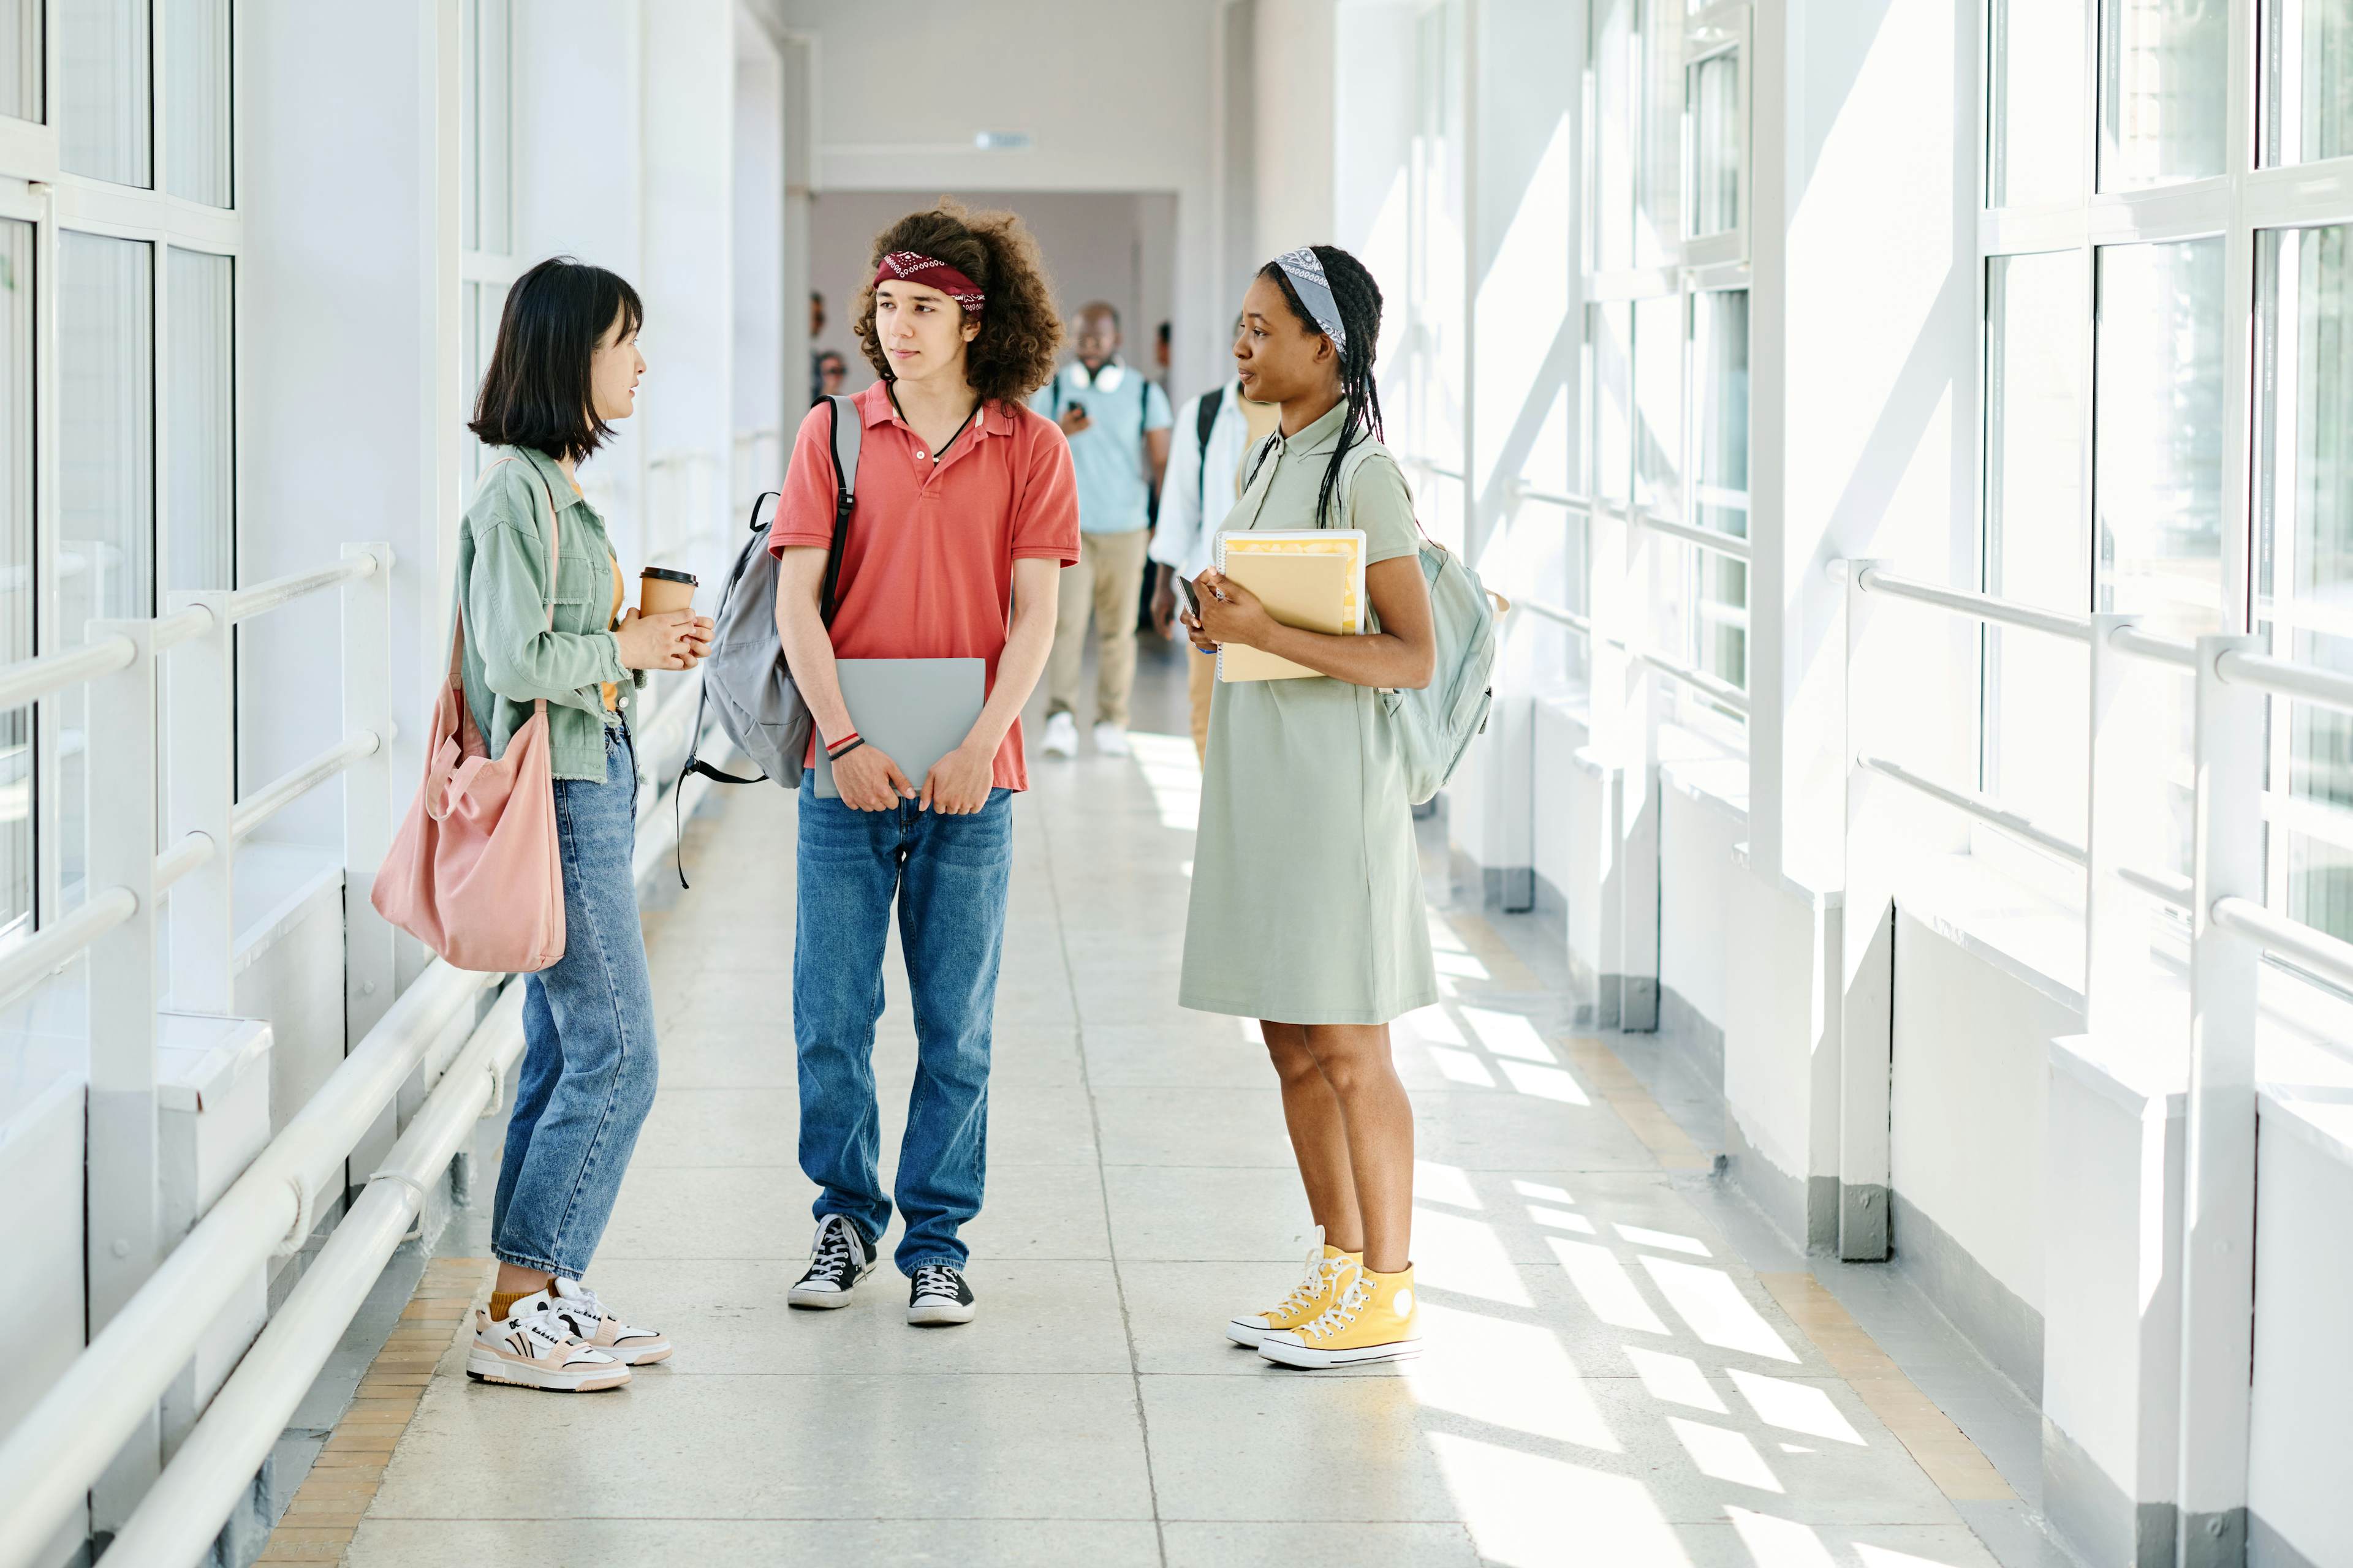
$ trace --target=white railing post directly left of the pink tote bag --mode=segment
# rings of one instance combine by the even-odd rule
[[[344,733],[376,750],[344,769],[344,1039],[367,1039],[393,1004],[393,929],[367,900],[393,844],[393,545],[344,545],[376,569],[344,583]]]

